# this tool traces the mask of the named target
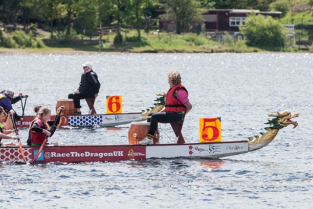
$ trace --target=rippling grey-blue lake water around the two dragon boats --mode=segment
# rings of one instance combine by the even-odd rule
[[[0,163],[0,208],[313,207],[313,54],[0,55],[0,89],[27,93],[26,115],[37,104],[55,113],[57,99],[77,89],[87,61],[102,85],[98,113],[106,112],[107,95],[122,95],[123,112],[152,107],[156,93],[169,88],[166,72],[179,71],[193,104],[186,142],[199,141],[200,117],[222,118],[223,141],[265,131],[273,111],[299,112],[299,125],[282,129],[263,149],[221,160]],[[83,100],[82,106],[86,114]],[[22,114],[21,102],[13,108]],[[128,143],[128,128],[70,128],[50,140]],[[167,124],[160,135],[161,142],[174,140]],[[26,144],[27,129],[20,136]]]

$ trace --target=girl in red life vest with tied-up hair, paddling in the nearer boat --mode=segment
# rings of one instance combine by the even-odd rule
[[[61,109],[64,109],[64,106],[58,108],[57,114],[61,111]],[[41,146],[46,137],[52,137],[54,134],[57,126],[51,127],[50,129],[50,121],[48,121],[50,120],[50,117],[51,110],[47,106],[43,106],[38,110],[37,118],[35,118],[30,124],[31,146]],[[52,124],[53,122],[54,121],[52,120]],[[56,124],[59,124],[59,122],[60,121],[56,121]]]

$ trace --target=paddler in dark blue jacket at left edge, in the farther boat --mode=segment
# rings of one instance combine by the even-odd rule
[[[27,97],[28,97],[27,94],[14,97],[13,89],[1,91],[0,107],[3,107],[3,109],[8,113],[9,111],[13,110],[12,104],[15,104],[18,101],[20,101],[22,98],[27,98]],[[21,121],[23,120],[23,117],[19,116],[16,112],[14,112],[14,118],[17,120],[21,120]]]

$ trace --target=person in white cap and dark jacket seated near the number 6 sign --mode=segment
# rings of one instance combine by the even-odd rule
[[[98,96],[100,89],[100,82],[97,74],[92,70],[93,65],[91,62],[82,64],[84,72],[82,73],[79,88],[77,92],[68,94],[69,99],[74,100],[76,111],[72,115],[82,115],[80,111],[81,99],[95,99]]]

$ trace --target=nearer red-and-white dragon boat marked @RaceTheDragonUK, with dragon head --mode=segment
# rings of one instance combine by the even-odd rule
[[[165,143],[158,144],[155,140],[153,145],[139,145],[135,133],[129,133],[129,144],[77,144],[66,145],[62,142],[55,142],[44,146],[40,153],[39,147],[22,146],[26,162],[33,162],[34,156],[38,158],[34,161],[42,162],[113,162],[122,160],[142,160],[150,158],[208,158],[219,159],[223,157],[244,154],[261,149],[268,145],[277,135],[279,130],[288,125],[296,128],[298,123],[291,119],[299,116],[295,112],[289,111],[274,112],[268,114],[269,126],[265,128],[266,133],[260,133],[260,136],[238,141],[220,141],[220,142],[199,142],[199,143]],[[145,126],[145,123],[143,126]],[[155,134],[156,138],[158,134]],[[131,140],[131,138],[136,138]],[[1,146],[0,161],[22,162],[22,154],[19,146]]]

